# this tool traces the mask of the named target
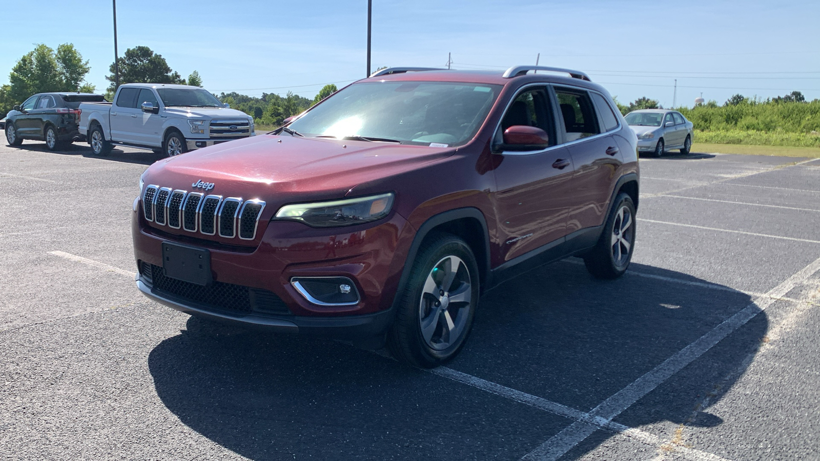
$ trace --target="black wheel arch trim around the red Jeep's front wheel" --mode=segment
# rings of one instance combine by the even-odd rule
[[[413,237],[412,244],[410,244],[410,249],[407,253],[407,258],[404,260],[404,267],[402,268],[402,276],[399,278],[399,285],[396,293],[393,297],[393,310],[395,311],[396,304],[399,302],[401,298],[400,294],[404,285],[407,285],[408,278],[410,277],[410,271],[412,269],[412,263],[416,261],[416,255],[418,253],[419,247],[421,247],[421,242],[423,242],[427,235],[430,235],[430,232],[434,230],[436,227],[441,226],[443,224],[447,224],[448,222],[458,221],[460,219],[469,218],[475,219],[478,221],[479,225],[481,226],[482,238],[481,241],[484,243],[484,248],[481,249],[484,253],[484,258],[479,260],[478,256],[476,255],[476,249],[473,249],[473,254],[476,256],[476,263],[479,266],[479,286],[481,288],[480,292],[484,292],[485,282],[488,280],[490,276],[490,232],[487,230],[487,221],[484,216],[484,213],[481,212],[478,208],[456,208],[454,210],[448,210],[446,212],[441,212],[437,215],[434,215],[424,221],[424,224],[419,226],[418,230],[416,231],[416,236]]]

